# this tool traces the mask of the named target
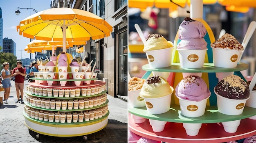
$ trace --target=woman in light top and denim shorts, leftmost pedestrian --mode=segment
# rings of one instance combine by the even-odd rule
[[[9,63],[4,62],[3,64],[3,69],[1,70],[1,74],[2,74],[2,85],[4,88],[4,104],[9,104],[7,102],[9,96],[10,96],[10,89],[11,89],[11,80],[10,77],[16,76],[17,73],[11,74],[11,72],[9,71]]]

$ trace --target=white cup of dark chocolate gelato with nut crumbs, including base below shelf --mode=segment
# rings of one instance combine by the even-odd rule
[[[214,88],[217,95],[218,111],[226,115],[240,115],[249,99],[247,83],[236,75],[226,76]],[[240,120],[222,122],[226,132],[236,132]]]

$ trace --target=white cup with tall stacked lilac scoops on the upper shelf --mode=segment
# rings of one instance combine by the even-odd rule
[[[180,66],[182,68],[201,68],[207,51],[204,40],[206,28],[204,24],[186,17],[179,27],[180,43],[177,44]]]

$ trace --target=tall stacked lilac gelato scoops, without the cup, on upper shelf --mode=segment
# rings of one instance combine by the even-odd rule
[[[179,27],[179,39],[181,39],[181,41],[177,44],[177,49],[207,49],[207,43],[204,40],[206,32],[204,24],[190,17],[186,17]]]

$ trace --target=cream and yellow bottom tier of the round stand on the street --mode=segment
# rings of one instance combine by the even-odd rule
[[[55,123],[32,119],[23,112],[25,125],[34,132],[54,137],[77,137],[98,132],[108,125],[109,112],[101,118],[77,123]]]

